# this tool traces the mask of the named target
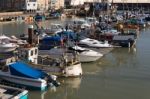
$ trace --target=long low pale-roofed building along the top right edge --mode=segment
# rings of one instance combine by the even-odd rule
[[[78,6],[82,4],[93,4],[93,3],[107,3],[115,4],[118,9],[139,9],[144,8],[150,10],[150,0],[66,0],[66,3],[70,3],[71,6]],[[68,4],[67,4],[68,5]]]

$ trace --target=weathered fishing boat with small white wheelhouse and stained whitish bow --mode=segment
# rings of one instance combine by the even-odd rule
[[[55,53],[55,52],[54,52]],[[76,56],[68,59],[66,53],[58,55],[61,58],[45,54],[39,54],[38,47],[20,48],[18,51],[19,58],[28,62],[32,67],[41,69],[48,74],[54,74],[65,77],[76,77],[82,75],[81,63],[76,59]]]

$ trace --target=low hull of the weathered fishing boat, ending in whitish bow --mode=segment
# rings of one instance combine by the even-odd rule
[[[48,66],[42,64],[32,64],[34,68],[41,69],[48,74],[55,74],[63,77],[78,77],[82,75],[81,63],[70,64],[67,66]]]

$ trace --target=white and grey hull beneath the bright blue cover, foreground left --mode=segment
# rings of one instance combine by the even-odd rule
[[[23,85],[28,88],[45,90],[47,88],[47,82],[42,79],[31,79],[19,76],[13,76],[5,72],[0,71],[0,78],[8,82]]]

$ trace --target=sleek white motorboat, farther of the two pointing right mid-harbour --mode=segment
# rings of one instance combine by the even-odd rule
[[[113,45],[109,44],[107,41],[101,42],[95,39],[85,38],[79,41],[79,45],[85,47],[94,47],[94,48],[110,48]]]

